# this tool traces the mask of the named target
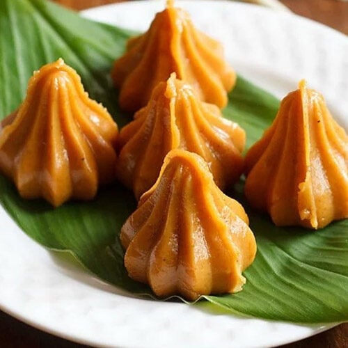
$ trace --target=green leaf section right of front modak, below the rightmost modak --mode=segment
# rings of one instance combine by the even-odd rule
[[[291,322],[347,320],[347,221],[308,232],[277,228],[248,212],[258,257],[244,272],[242,292],[205,296],[208,301],[255,317]]]

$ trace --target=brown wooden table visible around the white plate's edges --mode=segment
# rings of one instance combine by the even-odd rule
[[[120,0],[55,0],[75,10]],[[315,19],[348,35],[348,3],[337,0],[281,0],[294,13]],[[86,347],[54,335],[49,335],[0,311],[0,347]],[[306,340],[282,346],[283,348],[344,348],[348,347],[348,324],[319,333]]]

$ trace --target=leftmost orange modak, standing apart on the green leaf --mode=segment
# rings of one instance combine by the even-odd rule
[[[33,74],[24,102],[1,122],[0,171],[23,198],[88,200],[115,177],[117,136],[106,109],[59,59]]]

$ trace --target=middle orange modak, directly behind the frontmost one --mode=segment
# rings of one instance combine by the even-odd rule
[[[139,198],[155,184],[166,154],[184,148],[207,161],[223,189],[244,171],[245,137],[237,123],[223,118],[216,105],[201,102],[193,88],[173,73],[121,129],[118,178]]]

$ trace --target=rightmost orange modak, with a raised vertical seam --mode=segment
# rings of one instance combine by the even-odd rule
[[[323,228],[348,217],[347,168],[347,134],[303,80],[246,155],[246,198],[277,226]]]

